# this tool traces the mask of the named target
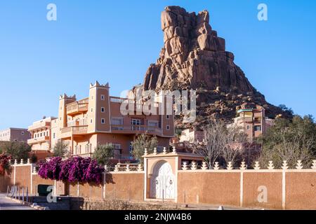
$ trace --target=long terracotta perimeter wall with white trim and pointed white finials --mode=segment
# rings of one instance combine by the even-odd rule
[[[39,184],[52,185],[58,182],[41,179],[32,164],[13,165],[11,176],[0,176],[0,191],[8,186],[28,188],[34,195]],[[176,198],[178,204],[212,204],[233,207],[265,209],[316,209],[316,161],[311,169],[303,169],[298,162],[296,169],[207,169],[196,164],[183,164],[176,169]],[[150,183],[147,183],[149,188]],[[143,202],[145,198],[145,172],[143,167],[116,167],[114,172],[105,172],[103,183],[65,183],[65,194],[86,197],[89,200],[130,200]],[[57,194],[59,191],[57,190]],[[145,198],[145,199],[144,199]]]

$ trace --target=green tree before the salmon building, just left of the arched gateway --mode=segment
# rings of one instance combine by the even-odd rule
[[[147,148],[148,153],[152,153],[154,148],[158,145],[157,137],[151,137],[147,134],[141,134],[131,143],[133,147],[133,157],[136,158],[140,163],[144,163],[143,155],[145,153],[145,148]]]

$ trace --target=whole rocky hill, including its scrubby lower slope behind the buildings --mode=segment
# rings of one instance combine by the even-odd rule
[[[225,50],[225,39],[209,25],[208,11],[187,13],[168,6],[161,19],[164,47],[145,74],[143,90],[197,90],[197,122],[192,125],[198,127],[209,118],[235,118],[236,106],[243,102],[264,106],[270,118],[291,116],[268,104],[251,85],[232,52]]]

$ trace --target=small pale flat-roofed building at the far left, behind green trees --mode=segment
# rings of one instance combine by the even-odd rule
[[[0,131],[0,141],[24,141],[30,138],[27,129],[10,127]]]

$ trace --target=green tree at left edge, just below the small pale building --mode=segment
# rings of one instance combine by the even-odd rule
[[[12,160],[26,161],[29,158],[29,152],[32,151],[31,147],[25,142],[20,141],[6,141],[0,146],[0,154],[5,153],[11,155]]]

